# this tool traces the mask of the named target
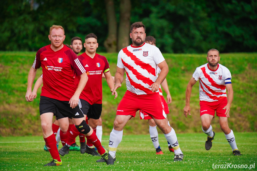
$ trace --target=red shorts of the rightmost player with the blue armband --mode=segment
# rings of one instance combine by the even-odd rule
[[[208,102],[200,101],[200,116],[203,114],[210,114],[214,116],[216,111],[216,116],[226,117],[226,109],[223,109],[227,105],[227,98],[222,98],[219,101]]]

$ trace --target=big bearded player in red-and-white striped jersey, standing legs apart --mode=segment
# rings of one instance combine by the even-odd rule
[[[130,27],[132,44],[123,48],[118,54],[115,87],[121,87],[126,71],[127,92],[123,96],[116,112],[113,130],[110,133],[109,153],[116,159],[116,150],[122,140],[123,128],[131,117],[135,117],[138,110],[148,113],[175,151],[174,161],[182,161],[177,136],[166,120],[164,106],[158,93],[160,84],[165,79],[169,68],[161,51],[153,45],[144,43],[146,34],[142,22],[135,22]],[[157,66],[161,69],[157,76]],[[101,159],[100,159],[101,160]]]

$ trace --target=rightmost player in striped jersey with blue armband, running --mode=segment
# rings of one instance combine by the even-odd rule
[[[228,117],[230,106],[233,100],[233,88],[231,84],[231,73],[225,66],[219,64],[219,51],[210,49],[207,52],[208,63],[196,68],[193,77],[186,87],[186,106],[184,114],[190,114],[190,95],[193,85],[199,80],[200,92],[200,117],[202,130],[207,134],[205,149],[210,150],[215,132],[212,130],[211,120],[219,117],[219,125],[224,132],[234,156],[241,156],[236,146],[236,140],[233,131],[228,127]],[[226,93],[228,90],[228,95]]]

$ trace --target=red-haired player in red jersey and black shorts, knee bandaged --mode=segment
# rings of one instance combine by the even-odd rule
[[[113,164],[112,157],[107,150],[102,148],[93,129],[85,123],[84,114],[78,106],[80,93],[88,80],[85,68],[81,65],[76,54],[63,44],[65,33],[62,26],[53,25],[50,28],[48,38],[51,44],[38,50],[35,61],[29,70],[28,87],[25,96],[27,101],[33,100],[32,84],[37,69],[42,67],[44,84],[39,111],[43,138],[53,158],[53,161],[44,166],[62,165],[52,131],[52,118],[56,113],[56,109],[64,116],[72,117],[76,128],[94,142],[93,144],[107,164]],[[74,73],[81,77],[77,88],[74,85]]]

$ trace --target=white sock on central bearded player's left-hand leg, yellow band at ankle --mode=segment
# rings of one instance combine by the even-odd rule
[[[122,131],[116,131],[112,130],[110,133],[110,140],[109,140],[109,154],[114,158],[118,145],[122,141],[122,135],[123,135],[123,130]]]

